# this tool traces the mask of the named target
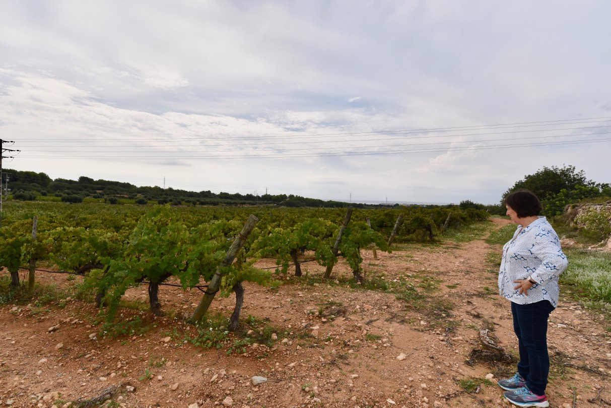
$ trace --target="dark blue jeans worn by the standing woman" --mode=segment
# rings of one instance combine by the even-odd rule
[[[511,302],[513,330],[518,336],[520,351],[518,373],[526,380],[526,387],[536,395],[544,395],[547,385],[547,318],[553,310],[549,301],[525,305]]]

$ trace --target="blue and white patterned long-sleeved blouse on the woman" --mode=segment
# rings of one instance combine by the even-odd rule
[[[566,266],[568,260],[556,231],[546,217],[538,217],[524,229],[518,226],[513,239],[503,246],[499,293],[521,305],[545,300],[556,307],[560,296],[558,278]],[[529,276],[538,283],[528,290],[528,296],[519,294],[513,281]]]

